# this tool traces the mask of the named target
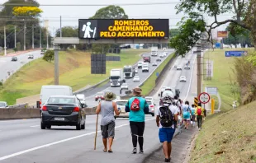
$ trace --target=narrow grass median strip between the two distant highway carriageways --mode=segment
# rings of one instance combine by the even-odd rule
[[[155,80],[156,80],[156,72],[162,72],[162,70],[164,69],[164,67],[166,66],[166,64],[168,63],[168,61],[173,58],[174,53],[173,54],[169,54],[168,58],[166,58],[164,60],[164,62],[159,65],[158,68],[156,68],[154,70],[154,72],[152,73],[152,75],[148,78],[147,81],[145,81],[144,85],[141,86],[141,89],[143,91],[143,95],[149,95],[149,92],[152,91],[154,89],[155,86]]]

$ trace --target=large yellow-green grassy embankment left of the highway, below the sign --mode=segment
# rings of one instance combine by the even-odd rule
[[[71,86],[73,91],[95,85],[109,77],[112,68],[136,63],[145,50],[124,50],[121,54],[111,54],[121,56],[121,62],[107,62],[107,74],[102,75],[91,74],[91,54],[72,50],[59,52],[59,85]],[[54,84],[54,70],[54,63],[47,63],[42,58],[26,64],[4,83],[0,100],[13,105],[17,98],[39,94],[41,86]]]

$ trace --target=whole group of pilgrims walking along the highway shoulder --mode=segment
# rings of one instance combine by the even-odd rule
[[[140,87],[133,89],[133,97],[128,100],[126,104],[126,112],[130,112],[130,133],[132,137],[132,154],[136,154],[138,151],[140,154],[144,153],[144,131],[145,131],[145,114],[149,113],[149,105],[145,98],[141,96]],[[112,100],[116,99],[116,95],[113,92],[107,92],[105,100],[97,106],[96,113],[102,113],[101,130],[102,130],[102,142],[104,145],[103,151],[113,152],[111,145],[115,137],[115,118],[114,113],[119,115],[120,112],[117,109],[116,103]],[[159,106],[156,112],[156,124],[159,127],[159,141],[163,143],[163,150],[165,162],[170,162],[172,151],[172,139],[173,135],[178,128],[178,132],[181,133],[181,127],[187,130],[191,125],[195,126],[197,120],[197,126],[201,129],[201,122],[205,116],[205,110],[201,107],[201,104],[189,105],[188,101],[183,101],[174,96],[174,99],[163,93],[162,104]],[[107,147],[108,140],[108,147]],[[137,143],[139,142],[140,149],[137,149]]]

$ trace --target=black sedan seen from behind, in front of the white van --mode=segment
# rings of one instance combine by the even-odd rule
[[[76,126],[80,130],[85,128],[85,119],[85,110],[77,97],[54,95],[42,106],[40,127]]]

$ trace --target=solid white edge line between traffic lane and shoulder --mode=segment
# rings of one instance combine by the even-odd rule
[[[153,120],[153,119],[147,119],[147,120],[145,120],[145,122],[146,122],[146,121],[149,121],[149,120]],[[121,127],[128,126],[128,125],[130,125],[130,123],[126,123],[126,124],[122,124],[122,125],[120,125],[120,126],[116,126],[116,128],[121,128]],[[49,143],[49,144],[45,144],[45,145],[42,145],[42,146],[39,146],[39,147],[33,147],[33,148],[31,148],[31,149],[27,149],[27,150],[24,150],[24,151],[18,151],[18,152],[16,152],[16,153],[11,154],[11,155],[7,155],[7,156],[2,156],[2,157],[0,157],[0,161],[6,160],[6,159],[8,159],[8,158],[12,158],[12,157],[14,157],[14,156],[22,155],[22,154],[27,153],[27,152],[30,152],[30,151],[36,151],[36,150],[41,149],[41,148],[44,148],[44,147],[50,147],[50,146],[59,144],[59,143],[61,143],[61,142],[68,142],[68,141],[73,140],[73,139],[77,139],[77,138],[80,138],[80,137],[85,137],[85,136],[88,136],[88,135],[92,135],[92,134],[94,134],[94,133],[96,133],[96,132],[85,133],[85,134],[82,134],[82,135],[78,135],[78,136],[76,136],[76,137],[69,137],[69,138],[66,138],[66,139],[63,139],[63,140],[60,140],[60,141],[57,141],[57,142],[51,142],[51,143]],[[101,130],[98,130],[97,133],[101,133]]]

